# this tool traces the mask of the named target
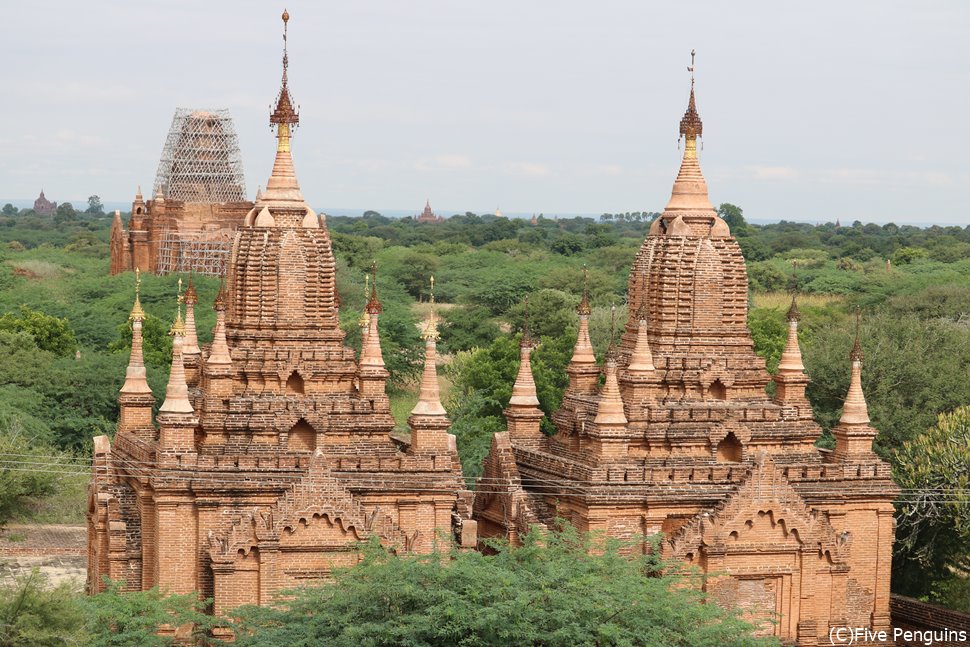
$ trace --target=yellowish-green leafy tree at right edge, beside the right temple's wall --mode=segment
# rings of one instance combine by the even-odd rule
[[[942,413],[895,453],[897,504],[893,579],[911,595],[970,569],[970,406]],[[970,599],[963,601],[970,612]]]

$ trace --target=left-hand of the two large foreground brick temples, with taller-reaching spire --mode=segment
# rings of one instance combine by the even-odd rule
[[[438,397],[433,311],[410,438],[391,435],[376,272],[360,357],[343,343],[330,235],[291,156],[288,20],[272,173],[236,232],[211,344],[198,344],[191,282],[180,296],[154,419],[136,287],[117,432],[94,440],[91,592],[108,577],[126,590],[198,592],[224,614],[326,578],[369,538],[417,553],[440,539],[476,545]]]

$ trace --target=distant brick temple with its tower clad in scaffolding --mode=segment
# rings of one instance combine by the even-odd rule
[[[127,226],[115,212],[111,274],[224,275],[233,234],[253,208],[228,110],[176,110],[153,193],[145,200],[138,188]]]

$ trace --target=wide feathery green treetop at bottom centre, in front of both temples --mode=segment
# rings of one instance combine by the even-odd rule
[[[643,539],[640,538],[642,543]],[[654,545],[656,542],[654,542]],[[533,530],[495,554],[397,556],[369,543],[335,581],[236,611],[239,647],[777,645],[653,551]]]

